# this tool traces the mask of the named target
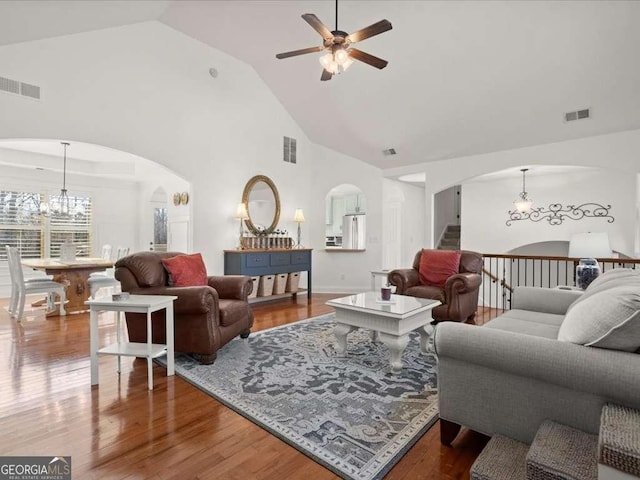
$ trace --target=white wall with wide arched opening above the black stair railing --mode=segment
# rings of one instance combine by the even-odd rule
[[[385,170],[385,176],[393,177],[423,171],[426,173],[425,183],[425,242],[432,245],[434,238],[433,226],[433,196],[446,188],[456,184],[463,184],[467,180],[491,172],[507,168],[535,165],[578,165],[588,167],[606,167],[609,170],[617,170],[636,178],[640,173],[640,130],[599,135],[595,137],[570,140],[566,142],[536,145],[533,147],[493,152],[483,155],[473,155],[437,162],[424,163],[420,166],[401,167]],[[615,184],[598,182],[600,189],[618,189]],[[509,188],[509,195],[513,196],[513,186]],[[532,186],[533,188],[533,186]],[[529,186],[527,186],[529,190]],[[519,190],[516,190],[516,194]],[[637,194],[636,194],[637,195]],[[465,191],[462,192],[464,202]],[[640,209],[640,197],[635,197],[636,209]],[[510,202],[513,198],[510,197]],[[634,238],[626,240],[635,244],[634,256],[640,256],[638,236],[638,214],[633,220],[635,229]],[[462,212],[462,231],[465,224],[471,220],[465,212]],[[491,231],[485,231],[484,235],[494,238]],[[464,233],[463,233],[464,237]],[[462,247],[467,248],[470,239],[463,239]],[[491,251],[496,252],[496,248]]]

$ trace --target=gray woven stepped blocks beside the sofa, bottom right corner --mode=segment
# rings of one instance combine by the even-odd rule
[[[495,435],[471,466],[471,480],[624,480],[640,478],[640,412],[602,409],[591,435],[551,420],[531,445]]]

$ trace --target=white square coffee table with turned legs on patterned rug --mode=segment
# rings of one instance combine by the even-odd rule
[[[367,328],[374,332],[373,340],[377,337],[389,347],[391,369],[400,372],[409,332],[420,334],[420,349],[427,352],[429,332],[425,327],[433,321],[431,310],[440,302],[405,295],[391,295],[390,302],[382,302],[378,292],[365,292],[329,300],[327,305],[336,309],[334,334],[339,353],[347,350],[349,332]]]

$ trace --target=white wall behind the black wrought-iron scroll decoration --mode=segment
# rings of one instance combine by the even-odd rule
[[[544,241],[569,241],[573,233],[607,232],[611,247],[633,255],[635,238],[635,176],[610,169],[585,169],[569,173],[536,175],[535,167],[527,175],[527,191],[534,207],[548,208],[550,203],[581,205],[596,202],[611,205],[615,218],[585,217],[566,219],[560,225],[546,220],[514,221],[506,225],[507,212],[522,190],[520,179],[477,181],[462,186],[463,228],[461,242],[465,249],[483,253],[503,253],[521,245]]]

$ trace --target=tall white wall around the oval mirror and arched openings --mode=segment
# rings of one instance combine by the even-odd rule
[[[278,187],[280,228],[295,232],[294,211],[304,209],[318,289],[360,289],[368,270],[379,268],[380,170],[310,142],[250,66],[157,22],[3,46],[0,65],[3,76],[42,88],[41,101],[0,95],[2,138],[104,145],[190,182],[192,247],[210,273],[223,272],[223,250],[236,245],[233,215],[257,174]],[[282,160],[285,135],[297,139],[297,164]],[[324,199],[340,183],[367,196],[365,253],[323,251]],[[345,280],[335,272],[346,272]]]

